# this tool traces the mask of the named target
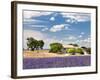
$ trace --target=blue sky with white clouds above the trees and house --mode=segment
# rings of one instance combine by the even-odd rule
[[[55,11],[23,11],[23,46],[27,37],[44,40],[44,48],[52,42],[77,43],[90,47],[91,14]]]

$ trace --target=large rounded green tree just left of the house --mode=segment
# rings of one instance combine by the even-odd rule
[[[63,46],[61,43],[51,43],[50,44],[50,52],[53,53],[61,53]]]

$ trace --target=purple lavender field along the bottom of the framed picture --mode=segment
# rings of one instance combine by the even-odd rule
[[[90,66],[90,56],[68,56],[53,58],[24,58],[23,69],[60,68]]]

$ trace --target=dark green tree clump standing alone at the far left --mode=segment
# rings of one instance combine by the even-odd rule
[[[40,50],[43,49],[44,41],[43,40],[36,40],[32,37],[27,38],[27,47],[28,50]]]

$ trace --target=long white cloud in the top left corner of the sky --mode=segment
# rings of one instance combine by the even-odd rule
[[[52,12],[40,12],[40,11],[24,11],[24,18],[37,17],[41,15],[50,15]]]

